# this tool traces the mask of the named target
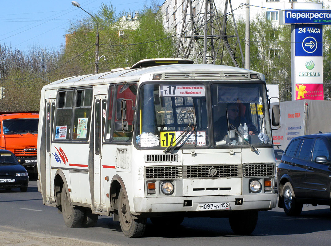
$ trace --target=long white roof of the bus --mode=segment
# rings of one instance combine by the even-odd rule
[[[243,80],[250,79],[250,74],[259,74],[259,79],[264,80],[263,74],[243,68],[210,64],[169,64],[72,76],[45,85],[43,89],[119,81],[148,81],[151,79],[151,74],[163,74],[162,79],[166,80]],[[141,80],[142,77],[145,80]]]

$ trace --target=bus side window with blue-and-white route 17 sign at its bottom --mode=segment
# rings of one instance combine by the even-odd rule
[[[73,90],[59,91],[55,114],[54,140],[70,138]]]

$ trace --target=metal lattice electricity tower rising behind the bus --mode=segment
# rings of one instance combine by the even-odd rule
[[[198,6],[199,12],[196,10]],[[227,28],[228,25],[231,28]],[[214,0],[201,0],[196,6],[192,5],[192,0],[186,0],[180,33],[177,58],[222,64],[226,50],[235,67],[244,67],[245,59],[230,0],[225,0],[223,15],[218,14]]]

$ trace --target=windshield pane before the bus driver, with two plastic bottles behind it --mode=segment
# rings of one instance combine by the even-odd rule
[[[216,146],[247,144],[240,140],[243,138],[238,133],[240,123],[248,128],[245,139],[250,144],[272,143],[266,92],[262,84],[215,83],[211,86],[211,99]]]

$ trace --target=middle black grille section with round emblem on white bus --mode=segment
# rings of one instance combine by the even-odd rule
[[[183,168],[184,178],[241,177],[239,165],[194,165]]]

